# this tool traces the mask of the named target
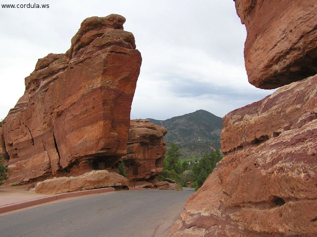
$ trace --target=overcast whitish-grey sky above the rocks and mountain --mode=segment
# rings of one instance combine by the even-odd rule
[[[30,1],[2,0],[1,4]],[[271,94],[248,83],[245,26],[233,0],[37,0],[47,9],[0,8],[0,119],[24,93],[38,58],[65,53],[80,23],[126,18],[142,54],[131,119],[167,119],[205,109],[223,117]]]

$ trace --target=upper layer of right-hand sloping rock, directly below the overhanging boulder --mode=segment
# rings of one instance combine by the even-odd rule
[[[317,118],[317,76],[284,86],[264,99],[223,117],[221,151],[257,146]]]

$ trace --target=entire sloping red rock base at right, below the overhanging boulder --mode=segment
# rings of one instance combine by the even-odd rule
[[[316,236],[316,98],[317,75],[226,115],[226,155],[172,236]]]

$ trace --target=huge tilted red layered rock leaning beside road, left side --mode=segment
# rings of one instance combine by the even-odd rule
[[[125,18],[84,20],[65,54],[39,59],[3,120],[8,183],[83,174],[126,154],[141,54]]]

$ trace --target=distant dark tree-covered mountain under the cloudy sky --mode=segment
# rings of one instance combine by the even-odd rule
[[[203,154],[213,148],[220,149],[222,118],[206,110],[200,109],[166,120],[149,120],[167,129],[164,140],[168,145],[175,142],[181,146],[183,158]]]

